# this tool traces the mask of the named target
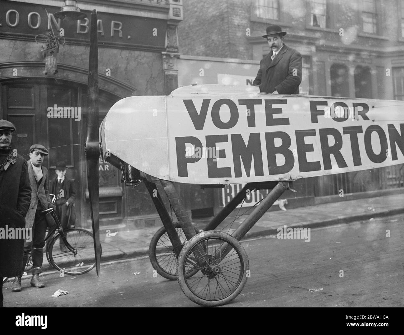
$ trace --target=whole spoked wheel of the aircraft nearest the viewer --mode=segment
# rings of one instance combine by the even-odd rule
[[[228,253],[220,256],[218,251],[226,247]],[[205,255],[202,248],[206,248]],[[190,267],[201,271],[187,278]],[[207,231],[185,243],[178,256],[177,275],[181,290],[190,300],[202,306],[220,306],[240,294],[248,269],[247,253],[238,240],[225,232]]]

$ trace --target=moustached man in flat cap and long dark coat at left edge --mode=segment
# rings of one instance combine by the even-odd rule
[[[25,215],[31,201],[27,161],[11,148],[14,131],[14,124],[0,120],[0,227],[8,232],[25,227]],[[21,273],[23,250],[24,238],[0,238],[1,285],[3,277]],[[2,292],[0,306],[3,306]]]

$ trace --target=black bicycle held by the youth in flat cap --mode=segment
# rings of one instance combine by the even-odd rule
[[[55,203],[55,194],[50,194]],[[93,234],[81,228],[65,228],[52,208],[41,211],[52,215],[56,225],[51,227],[45,237],[46,258],[50,265],[67,275],[82,275],[95,267]],[[101,250],[101,246],[100,246]],[[29,253],[25,271],[32,269],[32,257]],[[3,278],[3,283],[7,281]]]

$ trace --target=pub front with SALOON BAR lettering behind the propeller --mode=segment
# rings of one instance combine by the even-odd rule
[[[23,157],[33,143],[49,149],[50,178],[56,162],[65,161],[78,190],[76,225],[90,227],[84,155],[90,12],[98,13],[101,122],[119,99],[177,87],[182,0],[79,1],[87,17],[77,21],[55,17],[62,5],[1,0],[0,118],[15,124],[13,147]],[[101,225],[144,225],[157,216],[145,187],[124,188],[120,171],[101,159],[99,186]]]

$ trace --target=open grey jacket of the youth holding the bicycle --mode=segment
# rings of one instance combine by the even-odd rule
[[[25,227],[32,228],[35,220],[36,207],[38,206],[38,199],[42,205],[43,209],[48,209],[48,204],[50,202],[49,191],[48,191],[48,169],[41,165],[42,169],[42,179],[39,186],[36,184],[36,179],[34,175],[34,169],[32,168],[31,161],[27,161],[29,181],[31,183],[31,204],[29,205],[28,213],[25,216]]]

